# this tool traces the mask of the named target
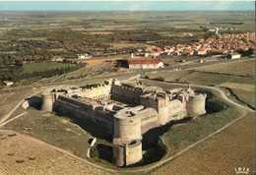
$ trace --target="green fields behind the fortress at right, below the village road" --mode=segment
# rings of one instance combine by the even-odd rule
[[[227,87],[229,89],[228,92],[231,92],[230,98],[254,108],[254,74],[255,60],[250,59],[193,70],[147,73],[145,77],[148,76],[152,80],[158,80],[159,77],[162,77],[165,79],[165,82]]]

